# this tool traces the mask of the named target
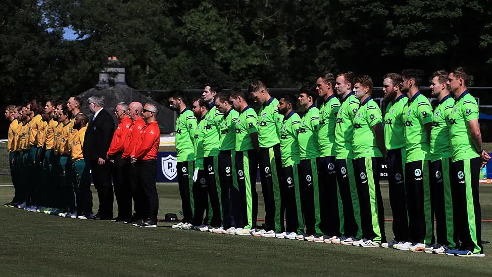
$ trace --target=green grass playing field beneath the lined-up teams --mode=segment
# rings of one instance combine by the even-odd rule
[[[179,216],[178,187],[159,185],[158,192],[159,218],[166,213]],[[13,187],[0,187],[0,203],[10,201],[12,193]],[[382,194],[386,218],[391,218],[385,184]],[[259,195],[261,201],[261,191]],[[96,207],[97,196],[93,196]],[[480,187],[480,200],[483,218],[492,219],[492,186]],[[260,202],[259,217],[263,215]],[[0,206],[0,222],[0,276],[492,274],[490,244],[484,245],[485,258],[459,258],[174,230],[168,223],[160,223],[159,228],[138,228],[4,206]],[[482,240],[489,241],[492,223],[483,223],[482,228]],[[386,234],[392,238],[390,222],[386,222]]]

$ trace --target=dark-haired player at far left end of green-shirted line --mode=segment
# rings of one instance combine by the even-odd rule
[[[193,137],[196,129],[196,117],[191,110],[186,107],[184,94],[175,91],[169,97],[169,106],[178,113],[176,118],[176,168],[178,171],[178,186],[181,196],[181,209],[183,219],[178,224],[172,226],[174,229],[181,229],[187,225],[191,228],[193,219],[193,160],[194,148]]]

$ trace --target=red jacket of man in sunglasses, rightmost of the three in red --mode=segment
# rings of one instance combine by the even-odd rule
[[[160,140],[161,130],[159,130],[157,121],[145,124],[145,127],[140,131],[140,139],[131,156],[137,160],[157,159]]]

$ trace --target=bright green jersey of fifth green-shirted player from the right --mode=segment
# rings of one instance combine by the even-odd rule
[[[383,156],[377,147],[376,135],[372,129],[382,120],[379,106],[371,97],[367,97],[359,105],[359,111],[354,119],[354,159]]]

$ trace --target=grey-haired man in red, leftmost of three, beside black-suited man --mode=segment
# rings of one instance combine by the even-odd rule
[[[115,115],[120,123],[115,130],[111,146],[106,154],[106,160],[110,161],[111,174],[113,176],[113,188],[116,202],[118,203],[118,216],[113,222],[123,222],[131,219],[131,188],[130,183],[125,181],[125,164],[127,160],[122,159],[123,147],[128,130],[131,126],[131,118],[128,116],[130,109],[128,103],[120,102],[116,105]]]

